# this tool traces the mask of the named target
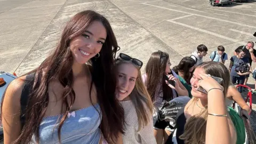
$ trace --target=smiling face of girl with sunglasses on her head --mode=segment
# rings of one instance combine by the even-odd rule
[[[122,63],[117,67],[116,97],[119,101],[125,100],[134,89],[138,77],[138,69],[131,63]]]

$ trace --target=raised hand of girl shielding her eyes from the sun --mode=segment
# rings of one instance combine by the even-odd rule
[[[199,74],[201,79],[199,80],[199,86],[203,87],[204,90],[209,92],[210,90],[217,89],[223,91],[223,86],[221,86],[211,75]]]

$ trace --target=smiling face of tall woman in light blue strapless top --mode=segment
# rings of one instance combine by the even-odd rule
[[[99,21],[93,21],[81,36],[71,39],[69,48],[77,63],[83,64],[100,52],[107,37],[105,27]]]

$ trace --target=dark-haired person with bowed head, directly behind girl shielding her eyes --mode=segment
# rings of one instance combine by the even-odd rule
[[[195,69],[195,64],[196,64],[196,61],[194,59],[190,57],[184,57],[180,61],[179,65],[172,68],[173,71],[175,71],[175,73],[178,74],[178,78],[180,82],[188,90],[188,96],[190,98],[192,98],[190,79]]]

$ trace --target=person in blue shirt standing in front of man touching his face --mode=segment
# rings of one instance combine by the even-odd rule
[[[244,50],[238,49],[237,54],[230,58],[229,72],[230,72],[231,82],[233,84],[235,83],[244,84],[246,75],[249,75],[250,73],[252,73],[249,59],[245,58],[244,55],[245,55]],[[237,72],[236,67],[240,65],[239,64],[240,62],[247,63],[247,65],[249,66],[249,71],[243,74],[240,71]],[[241,86],[238,87],[238,91],[240,93],[243,92]]]

